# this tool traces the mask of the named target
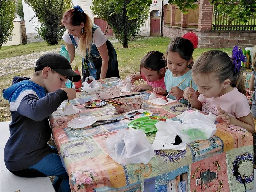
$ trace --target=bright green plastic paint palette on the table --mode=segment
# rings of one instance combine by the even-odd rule
[[[166,121],[167,117],[160,116],[147,116],[140,117],[133,120],[127,124],[127,127],[132,127],[133,129],[140,129],[144,133],[157,131],[155,124],[159,121]]]

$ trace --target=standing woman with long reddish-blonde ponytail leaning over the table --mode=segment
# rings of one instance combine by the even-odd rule
[[[82,58],[83,82],[88,76],[95,79],[119,77],[117,55],[113,45],[101,29],[80,6],[66,11],[62,23],[67,29],[62,36],[70,56],[70,64],[75,57],[75,46]]]

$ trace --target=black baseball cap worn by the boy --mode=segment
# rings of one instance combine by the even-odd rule
[[[69,61],[62,55],[58,53],[48,53],[40,57],[36,61],[35,71],[43,70],[45,67],[50,67],[54,69],[61,75],[67,76],[71,81],[78,82],[81,76],[72,70]]]

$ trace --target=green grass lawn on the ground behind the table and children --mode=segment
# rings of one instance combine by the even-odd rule
[[[143,39],[140,41],[131,41],[129,43],[129,48],[124,49],[123,46],[119,43],[114,43],[113,46],[116,49],[117,52],[117,59],[118,59],[118,66],[119,66],[119,74],[122,79],[128,74],[134,73],[139,71],[140,66],[140,60],[142,57],[151,50],[156,50],[165,53],[167,45],[169,44],[171,39],[166,37],[155,37],[151,39]],[[40,43],[32,43],[28,45],[20,45],[20,46],[10,46],[9,50],[11,50],[13,53],[15,53],[17,56],[22,54],[28,54],[30,52],[37,52],[37,51],[43,51],[49,50],[49,49],[55,49],[58,48],[59,45],[56,46],[46,46],[47,44],[44,42]],[[28,47],[27,47],[28,46]],[[5,51],[5,54],[7,54],[8,48],[3,47],[4,50],[0,51],[0,57],[2,55],[2,51]],[[47,49],[45,49],[47,48]],[[49,49],[48,49],[49,48]],[[22,50],[24,52],[22,52]],[[193,58],[196,60],[196,58],[201,55],[203,52],[206,52],[211,49],[195,49],[193,53]],[[232,48],[229,49],[219,49],[224,52],[227,52],[228,55],[231,54]],[[9,54],[9,53],[8,53]],[[14,55],[13,55],[14,56]],[[76,54],[75,59],[72,63],[72,66],[78,65],[79,70],[81,71],[81,57]],[[25,76],[30,77],[33,74],[33,69],[28,69],[20,72],[16,72],[10,75],[6,76],[0,76],[0,89],[4,89],[9,87],[12,84],[12,78],[13,76]],[[2,93],[0,95],[0,121],[10,121],[11,116],[4,117],[3,115],[9,115],[9,103],[7,100],[5,100],[2,97]]]

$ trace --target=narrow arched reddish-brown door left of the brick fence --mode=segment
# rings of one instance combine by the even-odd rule
[[[150,35],[160,35],[160,11],[158,10],[153,10],[150,13]]]

